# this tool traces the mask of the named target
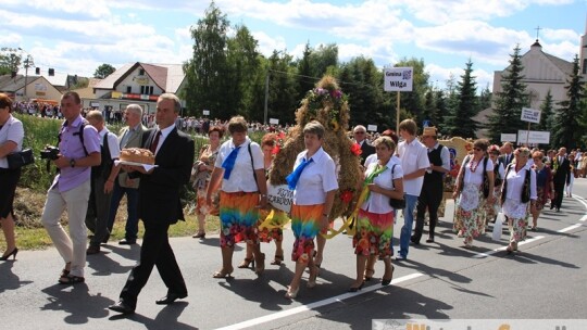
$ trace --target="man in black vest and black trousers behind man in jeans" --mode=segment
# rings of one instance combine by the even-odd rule
[[[424,174],[422,192],[417,198],[416,227],[411,238],[412,243],[420,244],[424,231],[424,216],[426,208],[430,218],[428,239],[426,243],[434,242],[434,230],[438,223],[438,206],[442,201],[445,188],[445,174],[450,172],[450,152],[447,147],[438,143],[436,127],[425,127],[422,134],[422,143],[428,149],[430,167]]]

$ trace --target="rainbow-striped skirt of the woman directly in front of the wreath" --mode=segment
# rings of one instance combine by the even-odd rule
[[[314,250],[314,238],[320,232],[320,220],[324,204],[291,205],[291,231],[294,231],[294,251],[291,261],[307,263]]]

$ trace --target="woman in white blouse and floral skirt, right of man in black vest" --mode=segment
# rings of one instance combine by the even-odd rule
[[[454,230],[464,238],[464,246],[472,248],[473,239],[485,230],[485,203],[494,202],[494,162],[487,157],[489,141],[473,142],[473,153],[463,160],[452,196],[457,203]],[[488,186],[484,193],[484,183]]]

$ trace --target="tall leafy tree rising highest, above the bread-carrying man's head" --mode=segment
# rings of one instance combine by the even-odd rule
[[[184,99],[189,114],[200,114],[210,110],[213,117],[227,119],[234,110],[223,106],[226,97],[226,47],[229,22],[214,1],[190,28],[193,39],[193,54],[184,63],[186,88]]]

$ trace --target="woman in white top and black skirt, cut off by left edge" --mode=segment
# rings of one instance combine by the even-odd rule
[[[0,261],[12,256],[16,259],[16,241],[14,239],[14,193],[21,178],[21,168],[9,168],[7,155],[23,148],[23,123],[12,116],[12,100],[0,93],[0,221],[7,240],[7,251]]]

